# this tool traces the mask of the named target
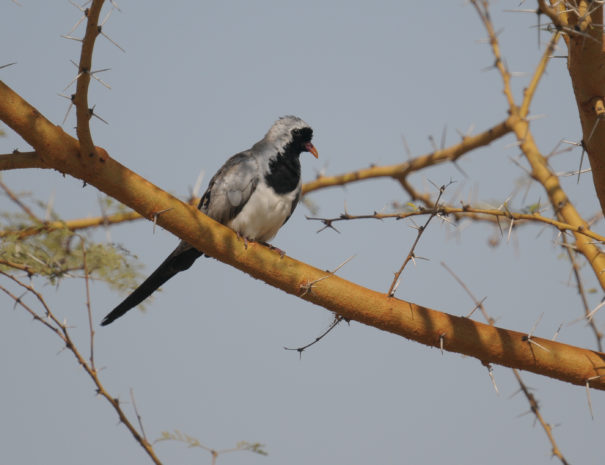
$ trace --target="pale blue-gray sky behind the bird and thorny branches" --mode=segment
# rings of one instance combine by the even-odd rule
[[[0,4],[5,46],[0,79],[61,124],[67,101],[58,97],[73,79],[79,44],[62,39],[81,16],[67,1],[9,0]],[[230,155],[261,138],[272,122],[296,114],[315,130],[320,158],[303,156],[303,175],[342,173],[431,150],[448,128],[475,132],[503,120],[505,100],[498,74],[479,39],[485,32],[466,2],[119,2],[104,31],[126,53],[100,37],[94,69],[112,87],[93,82],[90,102],[109,122],[93,119],[94,140],[160,187],[186,196],[200,171],[205,182]],[[541,50],[535,16],[502,13],[518,1],[500,1],[492,13],[511,70],[531,72]],[[532,7],[526,2],[524,7]],[[81,36],[82,26],[74,32]],[[547,40],[542,34],[543,42]],[[561,54],[565,49],[561,50]],[[514,79],[516,95],[528,82]],[[65,93],[73,92],[73,87]],[[562,138],[578,140],[577,109],[564,60],[555,60],[538,91],[532,114],[544,152]],[[64,128],[74,133],[74,112]],[[466,155],[460,166],[433,168],[411,177],[417,188],[456,182],[455,194],[497,205],[524,173],[511,163],[511,137]],[[10,134],[0,152],[27,149]],[[579,150],[552,159],[558,171],[576,169]],[[99,193],[50,171],[8,172],[3,180],[40,199],[56,197],[64,218],[99,214]],[[598,209],[591,179],[563,185],[582,213]],[[320,214],[337,216],[389,208],[407,197],[390,180],[314,193]],[[525,201],[546,196],[533,187]],[[0,198],[0,209],[8,208]],[[376,290],[388,289],[416,232],[406,222],[349,222],[341,234],[305,220],[300,206],[273,241],[288,255],[334,268],[356,254],[339,274]],[[602,232],[602,224],[597,230]],[[488,245],[497,231],[485,225],[454,228],[435,221],[417,254],[429,259],[406,269],[398,296],[452,314],[473,303],[440,266],[445,261],[479,296],[498,325],[552,337],[560,324],[581,315],[569,286],[570,267],[553,245],[555,234],[527,227]],[[101,231],[99,240],[105,240]],[[150,272],[177,239],[153,234],[147,222],[110,230],[112,241],[138,255]],[[586,270],[588,287],[594,279]],[[85,345],[84,285],[42,287],[60,318],[74,325]],[[92,286],[98,322],[123,296]],[[596,305],[602,292],[589,296]],[[49,331],[3,298],[0,325],[0,462],[90,465],[149,463],[112,409],[97,398],[89,379]],[[479,316],[477,315],[477,318]],[[330,323],[326,310],[285,295],[213,259],[203,259],[164,286],[146,313],[133,312],[98,328],[97,363],[107,389],[127,400],[136,394],[150,438],[179,429],[214,448],[247,440],[266,445],[268,457],[249,453],[220,457],[219,464],[552,464],[544,433],[534,427],[526,400],[510,395],[510,370],[494,367],[501,395],[475,359],[427,348],[358,323],[338,327],[298,359],[284,346],[312,341]],[[603,317],[597,318],[603,328]],[[582,324],[565,326],[559,339],[594,348]],[[572,463],[600,464],[605,398],[592,392],[591,420],[585,390],[526,375],[543,414]],[[127,407],[130,412],[130,409]],[[134,417],[133,417],[134,418]],[[181,444],[162,443],[166,464],[210,463]]]

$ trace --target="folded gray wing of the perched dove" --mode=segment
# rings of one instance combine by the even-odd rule
[[[258,185],[260,167],[249,151],[233,155],[210,180],[198,208],[226,224],[242,211]]]

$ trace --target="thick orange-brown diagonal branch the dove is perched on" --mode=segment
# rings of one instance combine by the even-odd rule
[[[0,81],[0,119],[36,151],[49,167],[87,183],[152,218],[209,256],[289,294],[355,320],[414,341],[488,363],[532,371],[555,379],[605,390],[605,354],[495,328],[372,291],[299,262],[261,244],[247,247],[226,226],[154,186],[106,155],[79,157],[79,143],[51,124]],[[106,152],[98,148],[97,151]],[[94,168],[94,169],[93,169]],[[329,276],[329,279],[325,279]],[[323,281],[317,281],[324,278]],[[316,284],[309,286],[309,283]],[[302,294],[302,295],[301,295]]]

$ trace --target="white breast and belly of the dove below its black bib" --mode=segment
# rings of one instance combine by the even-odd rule
[[[271,240],[292,213],[292,202],[299,189],[277,195],[273,189],[260,182],[242,211],[227,226],[246,239],[261,242]]]

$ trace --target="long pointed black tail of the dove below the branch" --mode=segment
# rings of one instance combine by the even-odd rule
[[[143,281],[124,301],[103,318],[101,326],[107,326],[120,318],[128,310],[139,305],[153,292],[179,271],[188,269],[203,254],[189,244],[181,242],[179,246],[162,262],[151,275]]]

